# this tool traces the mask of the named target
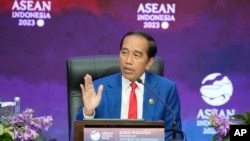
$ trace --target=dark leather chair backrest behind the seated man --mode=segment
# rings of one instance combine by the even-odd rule
[[[76,113],[83,104],[80,84],[84,84],[84,75],[88,73],[93,80],[96,80],[118,72],[120,72],[120,64],[119,56],[116,55],[76,56],[67,59],[69,132]],[[163,76],[163,60],[156,57],[149,72]]]

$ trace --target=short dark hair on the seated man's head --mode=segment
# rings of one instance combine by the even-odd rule
[[[148,33],[143,32],[143,31],[139,31],[139,30],[130,31],[122,37],[122,40],[120,43],[120,50],[122,48],[124,38],[127,36],[130,36],[130,35],[139,35],[139,36],[147,39],[148,40],[148,51],[147,51],[148,58],[155,57],[155,55],[157,53],[157,45],[156,45],[155,39],[151,35],[149,35]]]

